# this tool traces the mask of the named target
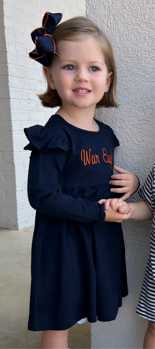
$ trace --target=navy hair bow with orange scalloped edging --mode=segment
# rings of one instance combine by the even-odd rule
[[[43,16],[42,27],[31,32],[35,50],[29,52],[29,57],[48,67],[50,62],[46,54],[58,54],[56,45],[51,35],[56,25],[61,21],[62,13],[46,12]]]

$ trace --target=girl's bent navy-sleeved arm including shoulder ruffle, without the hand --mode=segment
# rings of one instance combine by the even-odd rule
[[[48,126],[48,125],[47,125]],[[72,196],[72,188],[63,190],[63,169],[70,149],[61,135],[41,125],[25,128],[32,150],[28,172],[28,199],[38,212],[84,223],[102,223],[103,205]]]

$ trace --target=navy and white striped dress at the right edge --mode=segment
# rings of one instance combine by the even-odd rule
[[[139,195],[148,203],[154,217],[150,241],[150,255],[136,313],[155,323],[155,163],[144,185],[140,189]]]

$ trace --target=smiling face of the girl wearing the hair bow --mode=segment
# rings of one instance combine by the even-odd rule
[[[83,40],[61,40],[60,57],[54,55],[50,68],[44,68],[51,89],[63,102],[78,108],[95,106],[111,83],[100,46],[92,37]]]

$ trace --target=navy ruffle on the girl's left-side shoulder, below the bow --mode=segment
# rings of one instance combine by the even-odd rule
[[[60,148],[65,151],[69,150],[68,142],[61,135],[44,126],[34,125],[24,128],[24,133],[29,140],[29,144],[24,147],[24,150],[33,150],[37,148],[45,153],[50,148]]]

